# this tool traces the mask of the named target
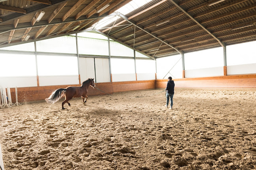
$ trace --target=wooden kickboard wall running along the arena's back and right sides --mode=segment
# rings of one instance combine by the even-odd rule
[[[175,88],[256,88],[256,74],[216,76],[205,78],[182,78],[173,79]],[[143,81],[122,81],[95,83],[96,87],[108,94],[113,92],[146,90],[165,88],[167,79],[143,80]],[[30,102],[44,100],[51,92],[59,88],[66,88],[70,85],[55,85],[42,87],[20,87],[18,88],[18,102]],[[80,85],[71,85],[80,86]],[[97,89],[89,87],[87,96],[106,95]],[[15,103],[15,88],[11,88],[12,102]]]

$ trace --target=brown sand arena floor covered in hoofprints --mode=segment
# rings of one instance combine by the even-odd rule
[[[0,109],[5,170],[256,169],[255,89],[162,90]]]

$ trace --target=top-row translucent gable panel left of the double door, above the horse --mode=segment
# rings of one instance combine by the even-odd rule
[[[42,41],[36,41],[36,51],[77,54],[76,37],[63,36]]]

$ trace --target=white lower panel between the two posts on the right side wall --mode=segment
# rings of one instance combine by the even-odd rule
[[[185,78],[191,77],[209,77],[209,76],[223,76],[223,67],[201,68],[194,70],[185,70]]]

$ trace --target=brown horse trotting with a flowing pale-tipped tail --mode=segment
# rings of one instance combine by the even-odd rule
[[[65,100],[62,102],[62,109],[65,109],[63,107],[65,103],[68,103],[68,105],[70,106],[70,103],[68,102],[68,100],[71,100],[72,98],[82,97],[83,104],[85,105],[85,102],[88,98],[86,94],[88,92],[89,86],[93,87],[93,89],[94,87],[96,87],[96,85],[94,84],[94,80],[92,78],[89,78],[83,81],[81,86],[69,86],[66,89],[55,90],[54,92],[51,93],[49,98],[46,98],[46,102],[55,103],[58,100],[60,100],[60,98],[64,95]],[[85,98],[85,101],[84,101],[84,98]]]

